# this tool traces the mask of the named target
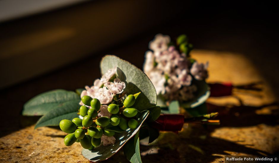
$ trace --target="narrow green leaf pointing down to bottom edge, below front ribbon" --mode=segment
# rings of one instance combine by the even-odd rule
[[[142,163],[139,150],[139,132],[123,147],[124,155],[131,163]]]

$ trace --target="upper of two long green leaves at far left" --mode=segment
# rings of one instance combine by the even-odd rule
[[[24,116],[41,116],[47,114],[57,106],[73,100],[80,100],[79,95],[72,91],[52,90],[31,98],[23,106]]]

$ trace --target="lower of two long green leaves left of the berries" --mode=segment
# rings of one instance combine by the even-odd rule
[[[62,119],[72,120],[78,117],[77,111],[80,108],[80,100],[72,100],[56,106],[37,122],[35,129],[43,126],[59,126]]]

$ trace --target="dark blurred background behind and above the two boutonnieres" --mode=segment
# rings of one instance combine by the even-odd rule
[[[0,0],[0,136],[22,127],[23,104],[35,95],[92,84],[106,54],[142,68],[157,33],[245,55],[279,95],[278,9],[270,2],[95,0],[4,15],[23,4]]]

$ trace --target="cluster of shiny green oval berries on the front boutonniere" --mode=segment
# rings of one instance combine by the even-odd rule
[[[128,127],[137,128],[138,121],[132,117],[136,116],[138,111],[132,106],[139,93],[128,95],[124,100],[123,98],[115,100],[107,106],[107,111],[112,114],[110,117],[98,117],[98,111],[102,108],[100,101],[87,95],[83,96],[81,100],[84,105],[80,107],[78,113],[83,119],[74,118],[72,121],[63,119],[59,124],[61,130],[68,133],[64,138],[64,144],[71,146],[75,142],[80,142],[83,148],[92,150],[101,144],[102,135],[111,137],[115,132],[123,132]]]

